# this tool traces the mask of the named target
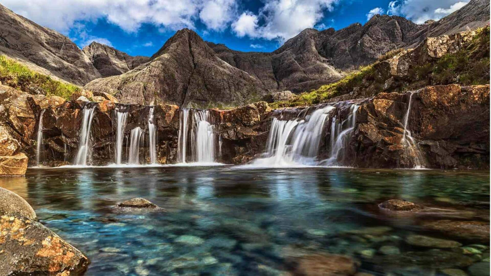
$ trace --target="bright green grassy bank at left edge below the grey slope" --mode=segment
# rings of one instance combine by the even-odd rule
[[[34,72],[5,55],[0,55],[0,81],[22,91],[42,89],[47,96],[59,96],[67,100],[81,89],[77,85],[56,81],[50,76]]]

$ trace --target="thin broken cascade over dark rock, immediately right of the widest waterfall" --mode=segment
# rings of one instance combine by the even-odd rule
[[[347,149],[349,140],[355,130],[356,126],[356,112],[358,111],[358,105],[350,106],[350,114],[344,121],[337,122],[336,116],[331,121],[331,134],[330,134],[330,156],[322,163],[327,166],[342,165],[342,161],[345,157],[344,150]]]

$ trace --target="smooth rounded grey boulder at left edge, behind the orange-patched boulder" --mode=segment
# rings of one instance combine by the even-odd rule
[[[36,219],[36,213],[24,198],[17,193],[0,188],[0,216],[4,215]]]

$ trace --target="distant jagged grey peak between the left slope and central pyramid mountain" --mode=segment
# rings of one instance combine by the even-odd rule
[[[149,60],[147,56],[131,56],[95,41],[83,47],[82,51],[103,78],[121,75]]]

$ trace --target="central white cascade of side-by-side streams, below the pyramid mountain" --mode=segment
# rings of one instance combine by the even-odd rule
[[[191,122],[188,125],[190,114]],[[190,160],[187,160],[188,145],[191,150]],[[214,163],[216,157],[215,149],[215,134],[210,111],[182,109],[179,119],[179,161],[181,163],[186,163],[187,161]]]

